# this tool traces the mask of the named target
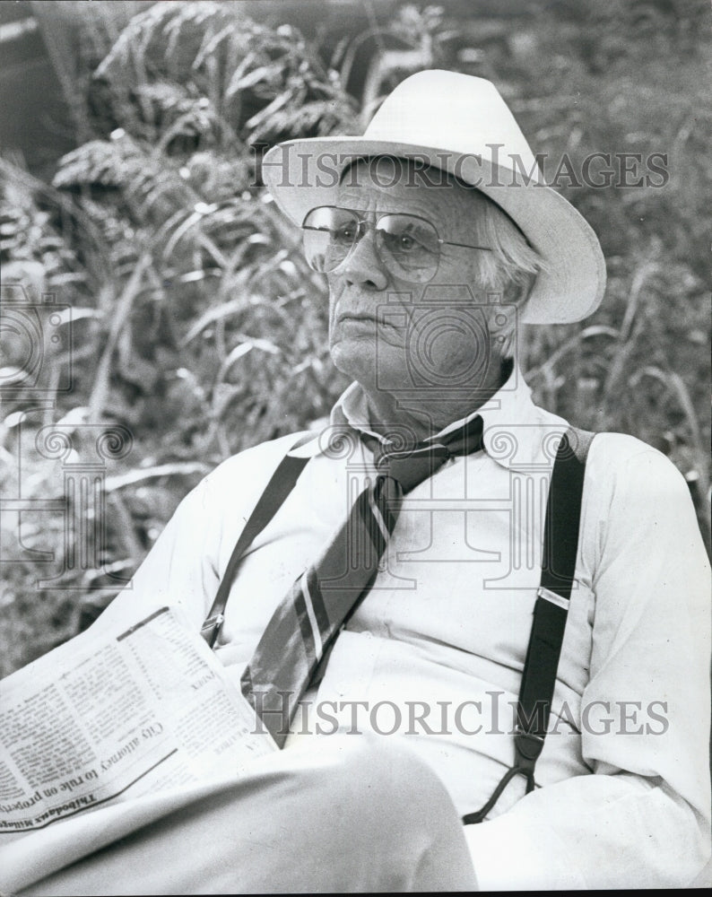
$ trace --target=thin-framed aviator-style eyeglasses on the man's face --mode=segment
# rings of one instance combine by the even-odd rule
[[[489,246],[440,239],[435,225],[420,215],[389,212],[370,222],[363,218],[364,214],[336,205],[312,209],[301,225],[308,266],[320,274],[334,271],[370,230],[375,232],[376,251],[388,272],[410,283],[432,280],[438,271],[442,246],[491,251]]]

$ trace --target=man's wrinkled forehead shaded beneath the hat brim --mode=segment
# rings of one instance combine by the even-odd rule
[[[447,171],[396,156],[353,161],[343,170],[337,201],[363,211],[411,212],[434,219],[476,211],[485,202],[478,190]]]

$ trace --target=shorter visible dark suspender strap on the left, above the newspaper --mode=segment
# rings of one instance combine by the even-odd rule
[[[301,437],[291,447],[290,451],[303,445],[311,438],[312,434],[309,434],[307,438]],[[242,561],[242,555],[282,507],[284,500],[294,488],[308,460],[308,457],[292,457],[289,454],[282,458],[272,475],[272,479],[267,483],[265,492],[262,493],[259,501],[257,501],[245,528],[240,533],[238,542],[232,550],[230,561],[222,576],[213,606],[210,608],[210,613],[205,618],[205,622],[200,630],[200,634],[211,648],[213,648],[218,633],[221,631],[222,623],[225,620],[225,606],[228,603],[230,587],[235,579],[239,563]]]

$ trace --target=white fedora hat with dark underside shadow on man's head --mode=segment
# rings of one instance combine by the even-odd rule
[[[265,153],[263,179],[288,218],[301,225],[316,205],[333,205],[343,170],[379,155],[447,170],[489,196],[543,257],[522,320],[566,324],[603,299],[598,238],[577,210],[544,183],[542,171],[494,84],[431,70],[406,78],[362,136],[312,137]]]

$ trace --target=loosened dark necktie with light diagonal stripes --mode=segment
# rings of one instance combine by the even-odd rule
[[[240,683],[280,747],[302,695],[344,622],[366,596],[393,533],[403,496],[448,458],[482,448],[482,418],[437,442],[389,451],[363,435],[377,475],[354,501],[343,527],[277,606]]]

